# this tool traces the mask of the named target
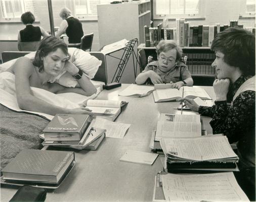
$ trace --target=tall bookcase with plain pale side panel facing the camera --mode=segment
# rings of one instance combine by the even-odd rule
[[[100,46],[126,38],[144,42],[150,26],[150,1],[97,5]]]

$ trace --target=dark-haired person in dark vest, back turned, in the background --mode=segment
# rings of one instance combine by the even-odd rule
[[[30,42],[30,41],[40,41],[41,36],[49,36],[49,34],[42,27],[35,27],[33,23],[35,17],[31,12],[26,12],[21,15],[21,21],[26,28],[20,30],[18,33],[18,43],[19,42]]]

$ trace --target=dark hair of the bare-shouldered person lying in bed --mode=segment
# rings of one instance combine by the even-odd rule
[[[70,57],[67,44],[62,39],[55,36],[46,36],[41,40],[33,59],[33,65],[39,68],[39,72],[44,71],[42,57],[46,57],[49,53],[56,51],[57,48],[60,48],[64,54]]]

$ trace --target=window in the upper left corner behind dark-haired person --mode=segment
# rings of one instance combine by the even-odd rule
[[[0,3],[2,21],[20,21],[27,11],[36,17],[35,0],[0,0]]]

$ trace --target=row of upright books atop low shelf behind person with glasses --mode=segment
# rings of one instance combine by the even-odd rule
[[[168,20],[163,19],[157,27],[144,26],[145,46],[154,47],[162,39],[175,40],[181,47],[210,47],[212,40],[217,33],[227,29],[228,27],[241,27],[238,21],[230,21],[230,25],[198,25],[191,26],[190,21],[185,19],[176,19],[176,27],[168,27]],[[248,31],[255,34],[255,28],[245,27]]]

